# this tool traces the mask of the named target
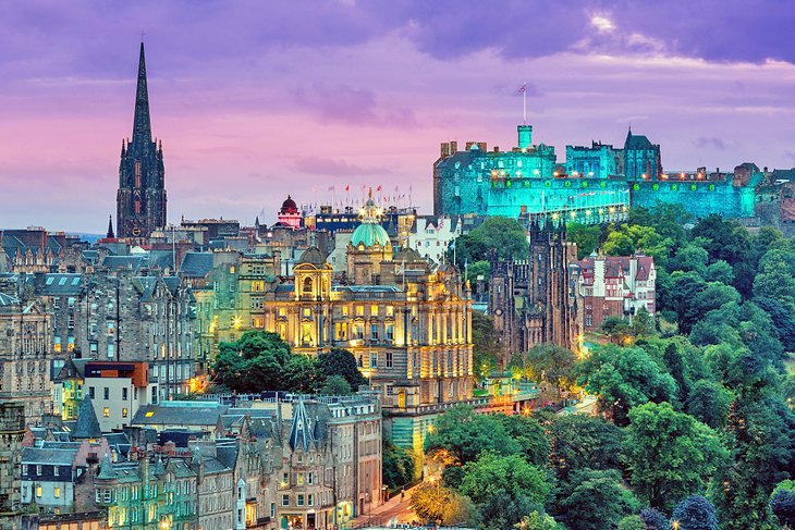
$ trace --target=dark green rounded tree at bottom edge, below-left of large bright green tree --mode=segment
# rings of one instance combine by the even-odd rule
[[[619,471],[584,469],[574,472],[561,488],[554,514],[572,530],[603,530],[616,528],[638,508],[637,498],[624,488]]]

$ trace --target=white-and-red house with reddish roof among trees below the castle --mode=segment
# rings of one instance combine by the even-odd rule
[[[599,330],[608,317],[632,320],[641,308],[655,317],[655,258],[591,255],[578,266],[586,330]]]

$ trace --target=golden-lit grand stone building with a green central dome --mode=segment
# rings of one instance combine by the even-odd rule
[[[250,319],[295,354],[351,350],[382,395],[393,439],[421,448],[432,414],[472,397],[468,286],[455,268],[431,267],[413,249],[394,255],[371,197],[360,215],[339,281],[309,248],[292,279],[246,284]]]

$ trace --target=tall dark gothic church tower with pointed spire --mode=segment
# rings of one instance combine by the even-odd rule
[[[163,149],[162,143],[157,145],[151,139],[144,42],[140,42],[133,139],[122,140],[115,200],[119,237],[146,238],[166,225]]]

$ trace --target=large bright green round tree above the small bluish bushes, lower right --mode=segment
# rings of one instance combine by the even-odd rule
[[[652,507],[673,506],[708,481],[729,453],[712,429],[669,403],[649,403],[629,411],[624,454],[632,484]]]

